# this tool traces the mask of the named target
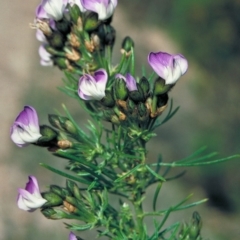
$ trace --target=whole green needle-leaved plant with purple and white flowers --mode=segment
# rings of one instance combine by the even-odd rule
[[[177,112],[169,100],[170,90],[186,73],[188,61],[181,54],[151,52],[148,64],[153,72],[136,76],[134,42],[126,37],[121,60],[113,65],[116,32],[111,20],[116,7],[117,0],[42,0],[36,9],[31,27],[41,42],[40,63],[64,72],[61,90],[78,101],[91,120],[84,131],[65,106],[64,116],[48,115],[50,125],[39,125],[32,106],[18,114],[11,128],[18,147],[45,147],[67,160],[65,170],[40,164],[66,178],[66,186],[50,185],[41,192],[37,178],[29,176],[25,189],[18,190],[18,207],[28,212],[40,209],[48,219],[72,219],[66,224],[74,231],[69,240],[82,239],[75,232],[92,229],[98,238],[116,240],[200,240],[202,220],[197,212],[189,223],[165,223],[171,213],[206,199],[187,203],[188,196],[157,209],[161,187],[174,179],[168,177],[172,167],[208,165],[238,155],[211,160],[213,155],[204,155],[201,148],[182,160],[163,162],[159,156],[156,163],[148,163],[146,143]],[[156,190],[149,212],[143,202],[153,184]],[[110,195],[119,200],[118,207]],[[152,232],[146,226],[151,217]]]

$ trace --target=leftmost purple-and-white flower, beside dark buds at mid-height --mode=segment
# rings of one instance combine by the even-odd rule
[[[11,127],[11,139],[18,147],[35,143],[42,135],[38,124],[37,112],[33,107],[25,106]]]

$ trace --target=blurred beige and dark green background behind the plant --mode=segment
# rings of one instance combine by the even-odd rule
[[[67,239],[69,233],[61,222],[46,220],[39,211],[30,214],[17,208],[17,189],[25,187],[28,175],[37,176],[42,190],[49,184],[65,184],[38,165],[45,162],[64,167],[63,160],[44,149],[20,149],[11,142],[9,129],[19,111],[32,105],[40,123],[47,124],[47,114],[54,109],[62,111],[64,103],[79,124],[87,119],[73,99],[57,90],[62,73],[39,64],[39,43],[29,28],[38,4],[38,0],[1,1],[1,240]],[[239,153],[240,1],[151,0],[146,4],[143,0],[119,0],[113,26],[117,30],[115,63],[121,39],[130,35],[135,41],[139,75],[150,51],[182,53],[189,60],[189,71],[170,94],[180,111],[157,130],[157,141],[149,144],[149,161],[155,161],[159,151],[165,161],[174,161],[205,145],[221,157]],[[194,193],[193,200],[207,197],[208,203],[173,219],[189,220],[197,210],[206,239],[239,240],[239,169],[239,160],[189,168],[184,177],[163,189],[159,207],[190,193]],[[89,239],[93,236],[88,235]]]

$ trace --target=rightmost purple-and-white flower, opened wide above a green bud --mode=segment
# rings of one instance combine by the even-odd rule
[[[148,55],[148,63],[165,80],[166,84],[176,83],[188,68],[188,62],[181,54],[171,55],[165,52],[151,52]]]

